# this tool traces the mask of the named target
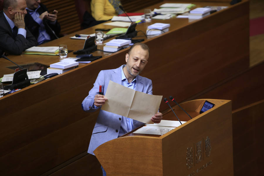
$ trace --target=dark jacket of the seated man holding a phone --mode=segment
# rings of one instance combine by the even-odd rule
[[[41,15],[43,12],[48,11],[48,9],[46,8],[46,6],[44,4],[39,4],[40,8],[38,8],[37,12],[39,15]],[[29,14],[29,11],[27,10],[27,14],[25,16],[25,24],[27,26],[27,28],[29,29],[29,31],[35,36],[35,38],[38,40],[38,35],[39,35],[39,27],[40,25],[34,21],[34,19],[32,18],[32,16]],[[55,24],[52,24],[50,20],[47,19],[43,19],[43,24],[45,26],[45,29],[47,31],[47,33],[50,35],[50,39],[54,40],[56,39],[55,35],[53,34],[52,30],[55,32],[55,34],[59,36],[60,34],[60,24],[58,23],[58,21],[56,20]],[[50,29],[48,26],[50,26]]]

